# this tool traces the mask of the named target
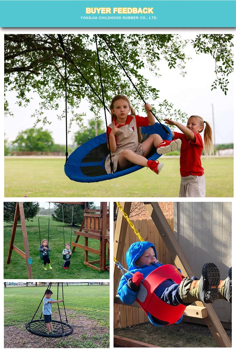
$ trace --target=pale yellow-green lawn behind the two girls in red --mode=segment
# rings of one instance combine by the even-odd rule
[[[64,174],[64,159],[6,158],[5,197],[178,197],[179,159],[162,161],[160,175],[143,168],[114,180],[79,183]],[[233,197],[234,158],[203,158],[202,164],[206,197]]]

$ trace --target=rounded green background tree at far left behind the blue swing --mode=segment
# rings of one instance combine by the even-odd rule
[[[49,151],[54,144],[50,133],[48,130],[43,131],[42,127],[29,128],[19,132],[12,144],[17,147],[18,151]]]

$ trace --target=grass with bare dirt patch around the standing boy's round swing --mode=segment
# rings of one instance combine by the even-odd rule
[[[44,295],[44,287],[4,288],[5,348],[109,348],[109,286],[66,286],[64,303],[72,335],[47,339],[32,335],[25,329]],[[56,299],[57,287],[51,287]],[[62,298],[61,288],[59,299]],[[54,297],[55,296],[55,297]],[[63,303],[59,303],[62,321]],[[39,319],[42,304],[34,319]],[[55,319],[56,318],[56,319]],[[58,320],[57,304],[52,304],[52,319]],[[60,318],[59,318],[60,320]]]

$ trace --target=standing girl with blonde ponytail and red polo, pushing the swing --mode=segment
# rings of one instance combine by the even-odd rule
[[[187,126],[179,122],[164,119],[167,124],[176,126],[183,133],[173,132],[173,138],[179,138],[182,141],[180,148],[180,191],[179,197],[205,197],[205,175],[204,169],[201,166],[201,152],[203,150],[203,140],[199,133],[204,130],[204,155],[214,155],[214,148],[212,143],[212,130],[208,122],[197,115],[192,115],[188,119]],[[161,146],[161,145],[160,145]],[[157,152],[164,154],[164,148]]]

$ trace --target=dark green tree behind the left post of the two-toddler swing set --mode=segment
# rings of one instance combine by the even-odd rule
[[[3,203],[3,218],[7,223],[13,224],[15,215],[16,202],[4,202]],[[33,221],[32,219],[38,214],[39,202],[24,202],[24,214],[25,220]],[[18,222],[20,222],[20,214],[18,216]]]

